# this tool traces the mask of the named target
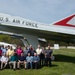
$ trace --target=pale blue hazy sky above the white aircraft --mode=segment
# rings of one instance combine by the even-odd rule
[[[0,13],[50,24],[75,14],[75,0],[0,0]]]

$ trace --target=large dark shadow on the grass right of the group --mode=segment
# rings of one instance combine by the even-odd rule
[[[61,55],[61,54],[57,54],[54,56],[55,56],[55,61],[75,63],[75,57]]]

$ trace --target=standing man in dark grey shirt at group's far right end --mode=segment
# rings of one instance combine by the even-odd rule
[[[48,49],[45,51],[45,65],[46,66],[51,66],[51,56],[52,56],[53,51],[50,49],[50,46],[48,46]]]

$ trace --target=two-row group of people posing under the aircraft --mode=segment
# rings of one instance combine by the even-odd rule
[[[14,50],[12,46],[4,47],[0,46],[0,69],[4,69],[7,65],[12,69],[21,69],[21,66],[25,69],[38,69],[41,66],[51,66],[51,57],[53,50],[50,46],[45,49],[38,45],[37,49],[34,49],[32,45],[25,46],[24,49],[21,46],[17,46]]]

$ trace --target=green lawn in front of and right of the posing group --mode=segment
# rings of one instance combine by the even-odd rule
[[[52,67],[42,67],[38,70],[10,70],[0,71],[0,75],[75,75],[75,50],[54,50],[55,60]]]

